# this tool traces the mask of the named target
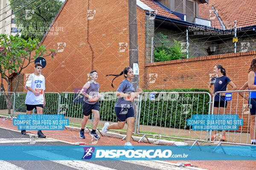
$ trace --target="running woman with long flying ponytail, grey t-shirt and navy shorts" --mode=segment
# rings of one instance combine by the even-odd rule
[[[116,91],[116,95],[118,96],[115,104],[117,123],[109,125],[109,123],[106,122],[104,127],[102,128],[102,133],[106,134],[106,132],[110,129],[122,129],[125,125],[126,120],[128,128],[126,131],[126,143],[124,147],[125,149],[134,149],[134,147],[130,143],[134,126],[134,109],[131,102],[134,98],[139,96],[140,93],[142,93],[142,89],[138,88],[138,92],[135,93],[134,85],[131,82],[134,77],[134,73],[131,67],[126,67],[118,75],[110,74],[110,76],[115,76],[114,79],[116,79],[116,77],[119,77],[122,74],[124,74],[125,79],[120,83],[119,88]],[[111,83],[112,87],[114,87],[114,79]]]

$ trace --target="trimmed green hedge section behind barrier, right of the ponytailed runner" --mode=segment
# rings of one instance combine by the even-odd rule
[[[207,89],[199,88],[176,88],[176,89],[155,89],[144,90],[143,92],[208,92]],[[154,94],[154,93],[151,93]],[[143,97],[143,96],[142,96]],[[209,95],[208,94],[169,94],[155,93],[155,101],[149,99],[141,102],[140,125],[153,125],[161,127],[186,128],[186,120],[191,118],[191,114],[208,114]],[[145,98],[145,95],[144,95]],[[191,106],[191,107],[190,107]],[[144,113],[145,112],[145,113]],[[181,114],[182,113],[182,114]],[[176,120],[175,120],[176,117]]]

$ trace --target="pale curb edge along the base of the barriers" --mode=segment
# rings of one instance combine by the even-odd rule
[[[75,131],[80,131],[80,129],[81,129],[79,127],[73,127],[73,126],[65,126],[65,128],[69,129],[69,130],[75,130]],[[90,133],[88,129],[84,129],[84,132]],[[99,134],[99,132],[97,132],[97,133]],[[114,133],[114,132],[107,132],[106,136],[112,137],[112,138],[118,138],[118,139],[122,139],[125,137],[124,134],[119,134],[119,133]],[[141,139],[140,136],[132,136],[132,138],[136,142],[138,142]],[[186,142],[169,141],[169,140],[165,140],[165,139],[148,138],[148,140],[151,144],[175,145],[175,146],[189,145]],[[148,143],[147,139],[145,139],[145,138],[143,140],[141,140],[140,142]]]

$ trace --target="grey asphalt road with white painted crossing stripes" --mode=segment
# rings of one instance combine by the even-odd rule
[[[0,145],[31,145],[29,134],[0,127]],[[53,139],[37,139],[34,145],[71,145]],[[156,161],[0,161],[0,170],[187,170]]]

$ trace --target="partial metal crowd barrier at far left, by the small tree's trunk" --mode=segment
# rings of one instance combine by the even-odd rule
[[[14,118],[15,108],[15,93],[14,92],[0,92],[0,114],[7,115]]]

